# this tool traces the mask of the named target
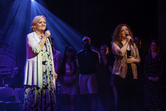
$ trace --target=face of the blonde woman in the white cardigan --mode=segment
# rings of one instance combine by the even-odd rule
[[[46,20],[44,18],[41,18],[37,23],[36,23],[36,30],[37,31],[44,31],[46,29]]]

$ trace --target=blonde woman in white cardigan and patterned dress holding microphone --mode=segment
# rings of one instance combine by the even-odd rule
[[[31,24],[33,32],[26,37],[25,96],[23,110],[56,110],[55,80],[52,48],[46,29],[46,18],[36,16]]]

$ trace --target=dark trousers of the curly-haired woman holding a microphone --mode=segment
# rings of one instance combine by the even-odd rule
[[[114,74],[113,81],[117,92],[116,111],[131,111],[131,101],[136,80],[132,77],[123,79]]]

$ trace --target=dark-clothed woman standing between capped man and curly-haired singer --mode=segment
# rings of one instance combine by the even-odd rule
[[[112,74],[112,61],[109,48],[106,44],[100,47],[100,73],[98,77],[98,107],[99,111],[114,111],[115,100],[112,85],[110,86]]]

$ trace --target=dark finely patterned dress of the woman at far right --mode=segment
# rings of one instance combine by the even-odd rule
[[[166,88],[164,85],[164,59],[162,55],[157,55],[154,59],[147,56],[144,64],[145,91],[144,101],[146,108],[165,108]],[[148,77],[159,77],[157,82],[153,82]]]

